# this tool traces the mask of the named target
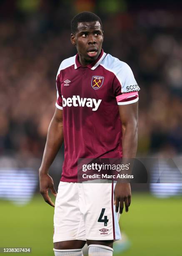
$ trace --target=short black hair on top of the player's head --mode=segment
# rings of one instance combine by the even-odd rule
[[[82,12],[75,15],[71,21],[71,32],[76,33],[78,30],[78,23],[79,22],[92,22],[92,21],[99,21],[100,26],[102,28],[102,21],[95,13],[91,12]]]

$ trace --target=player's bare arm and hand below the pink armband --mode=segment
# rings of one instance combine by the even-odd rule
[[[119,105],[120,119],[122,122],[122,151],[123,160],[134,159],[137,152],[138,137],[138,101],[132,104]],[[131,187],[130,183],[117,182],[114,191],[116,212],[122,214],[124,203],[125,210],[131,203]]]

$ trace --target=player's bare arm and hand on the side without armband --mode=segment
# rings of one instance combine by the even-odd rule
[[[52,194],[56,196],[54,183],[50,175],[48,174],[49,168],[57,155],[64,140],[63,136],[63,120],[62,110],[56,108],[54,116],[50,122],[47,141],[45,144],[44,154],[42,158],[42,164],[39,169],[40,177],[40,193],[45,202],[54,207],[54,203],[48,196],[48,190],[50,189]]]

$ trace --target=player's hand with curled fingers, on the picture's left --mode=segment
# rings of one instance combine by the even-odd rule
[[[44,197],[44,200],[45,202],[47,202],[47,204],[51,205],[52,207],[55,207],[54,203],[51,201],[48,195],[49,189],[55,197],[57,195],[52,178],[50,177],[49,174],[39,174],[39,179],[40,179],[40,194],[42,195],[42,197]]]

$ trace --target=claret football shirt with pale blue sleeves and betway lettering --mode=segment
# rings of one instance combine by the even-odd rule
[[[63,60],[56,85],[65,145],[61,181],[77,182],[79,158],[122,157],[118,105],[137,102],[140,88],[130,67],[103,50],[87,67],[78,54]]]

